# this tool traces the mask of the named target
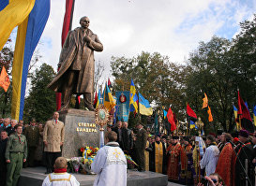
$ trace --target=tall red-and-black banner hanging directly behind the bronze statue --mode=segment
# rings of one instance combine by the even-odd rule
[[[73,11],[75,6],[75,0],[66,0],[66,12],[63,21],[62,35],[61,35],[61,46],[63,47],[68,31],[72,28]],[[59,71],[59,68],[58,68]],[[80,97],[77,99],[80,99]],[[56,106],[57,110],[61,107],[61,93],[56,93]]]

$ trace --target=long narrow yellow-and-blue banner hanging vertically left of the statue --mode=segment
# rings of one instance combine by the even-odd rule
[[[22,0],[21,0],[22,1]],[[7,7],[6,7],[7,8]],[[23,119],[28,67],[50,14],[50,0],[36,0],[29,16],[18,27],[12,65],[11,118]]]

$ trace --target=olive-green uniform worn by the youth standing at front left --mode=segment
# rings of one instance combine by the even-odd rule
[[[17,134],[9,136],[5,155],[6,160],[10,160],[10,163],[8,163],[7,186],[15,186],[23,168],[23,159],[27,157],[26,137]]]

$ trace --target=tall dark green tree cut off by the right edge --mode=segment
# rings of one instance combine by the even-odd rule
[[[252,21],[240,23],[241,32],[233,39],[230,50],[233,68],[233,85],[248,106],[256,104],[256,14]]]

